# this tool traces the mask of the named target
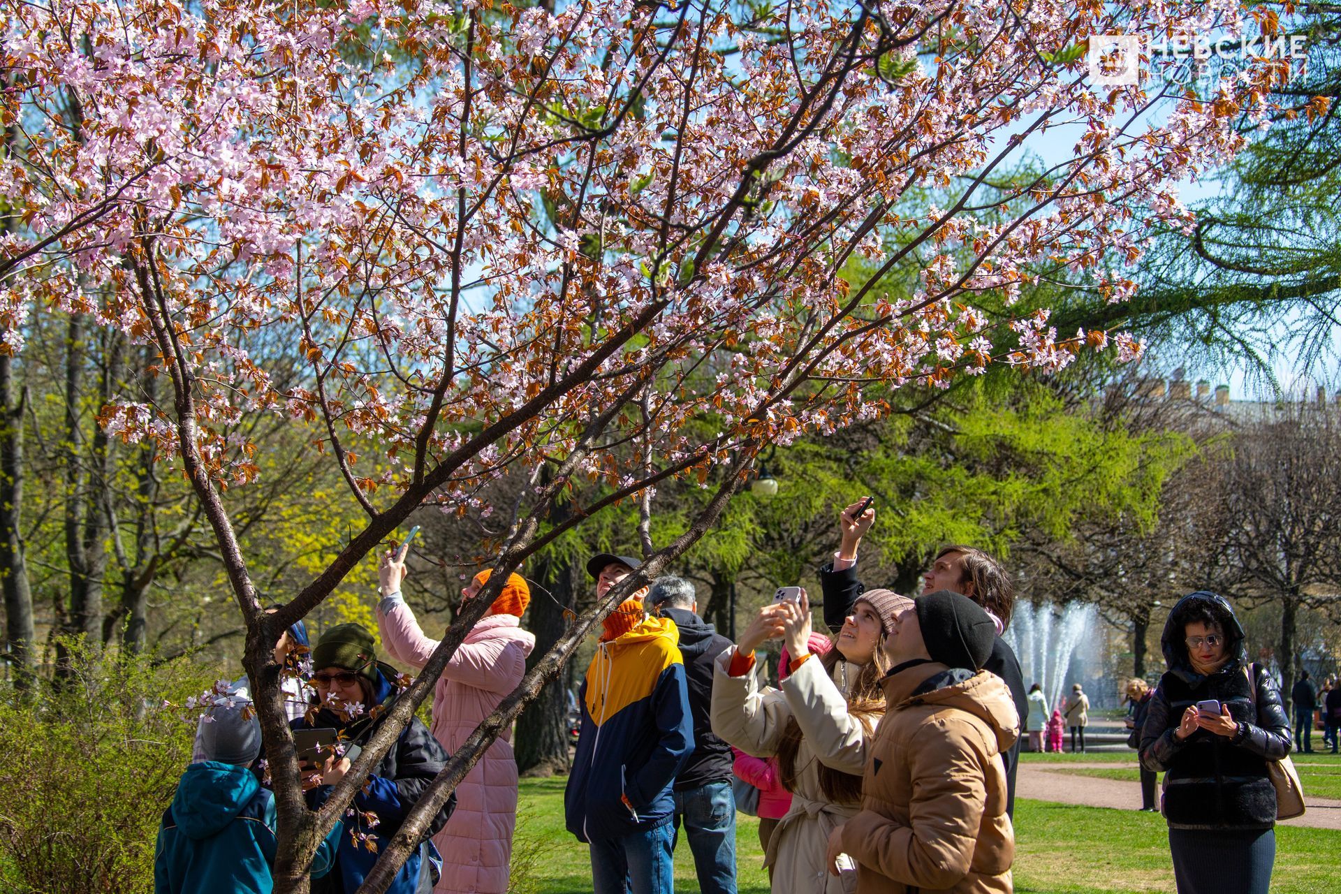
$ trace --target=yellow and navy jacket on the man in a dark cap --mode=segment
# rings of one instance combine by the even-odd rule
[[[644,618],[597,647],[579,690],[582,730],[563,792],[567,827],[578,840],[624,838],[670,822],[670,784],[693,751],[679,641],[673,621]]]

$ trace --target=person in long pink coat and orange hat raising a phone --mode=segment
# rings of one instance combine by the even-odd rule
[[[388,654],[416,670],[437,649],[420,629],[414,613],[401,598],[405,576],[404,552],[388,552],[380,568],[382,600],[377,626]],[[461,590],[465,599],[479,592],[488,571],[475,575]],[[526,657],[535,637],[522,630],[522,614],[531,600],[519,575],[508,575],[488,614],[457,647],[433,692],[433,737],[455,753],[480,721],[522,682]],[[456,812],[433,844],[443,855],[443,875],[434,894],[506,894],[516,826],[516,760],[511,730],[504,730],[480,761],[456,787]]]

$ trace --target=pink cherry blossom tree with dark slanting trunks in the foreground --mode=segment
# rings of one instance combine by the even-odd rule
[[[885,411],[991,362],[1066,366],[1124,334],[988,318],[1041,265],[1122,300],[1176,182],[1239,147],[1287,63],[1198,98],[1160,78],[1092,90],[1086,40],[1270,31],[1235,3],[35,0],[5,8],[3,346],[30,314],[152,344],[169,398],[125,395],[109,437],[154,440],[194,488],[247,626],[279,810],[276,890],[536,550],[662,481],[713,496],[684,536],[574,619],[453,755],[384,850],[385,890],[483,748],[611,606],[713,524],[759,450]],[[1155,60],[1160,66],[1183,64]],[[1065,161],[998,189],[1043,141]],[[948,197],[929,201],[927,197]],[[876,275],[849,281],[849,261]],[[916,268],[889,294],[885,273]],[[257,358],[295,343],[296,385]],[[315,422],[366,524],[266,614],[229,517],[241,411]],[[306,808],[271,654],[416,508],[485,517],[496,574]],[[543,474],[542,474],[543,472]],[[581,480],[605,496],[542,527]]]

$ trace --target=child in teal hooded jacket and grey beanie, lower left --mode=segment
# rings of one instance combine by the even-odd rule
[[[245,696],[228,696],[202,716],[201,760],[177,783],[154,854],[154,894],[270,894],[275,866],[275,796],[249,769],[260,755],[260,721]],[[327,761],[331,783],[343,775]],[[312,878],[335,860],[337,820],[316,846]]]

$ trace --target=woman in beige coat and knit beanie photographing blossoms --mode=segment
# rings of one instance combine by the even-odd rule
[[[884,713],[880,643],[911,599],[870,590],[853,606],[835,647],[810,654],[810,604],[764,606],[736,646],[717,657],[712,678],[712,732],[755,757],[778,757],[791,808],[779,820],[764,866],[774,894],[850,894],[857,873],[833,877],[825,863],[829,834],[861,803],[866,743]],[[782,637],[791,676],[782,689],[759,689],[754,650]],[[856,867],[853,867],[854,870]]]

